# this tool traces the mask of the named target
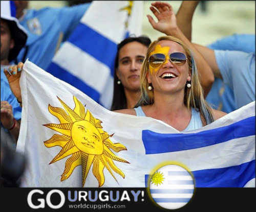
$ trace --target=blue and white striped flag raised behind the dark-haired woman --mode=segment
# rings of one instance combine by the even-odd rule
[[[93,1],[48,72],[110,109],[117,44],[142,32],[143,1]]]

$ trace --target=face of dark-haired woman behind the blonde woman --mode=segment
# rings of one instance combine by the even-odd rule
[[[120,49],[116,75],[125,90],[139,90],[140,68],[146,52],[147,47],[137,41],[127,43]]]

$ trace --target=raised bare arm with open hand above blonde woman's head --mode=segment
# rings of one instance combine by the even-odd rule
[[[197,48],[195,48],[195,46],[186,38],[177,26],[176,16],[172,6],[165,2],[152,3],[152,6],[153,7],[150,7],[150,9],[158,19],[158,22],[156,22],[152,16],[147,15],[148,21],[151,23],[152,27],[166,35],[172,35],[179,38],[194,53],[198,72],[201,75],[200,80],[204,90],[204,97],[206,97],[214,83],[214,74],[211,67],[205,61]]]

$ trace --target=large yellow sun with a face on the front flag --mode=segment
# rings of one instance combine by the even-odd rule
[[[123,172],[117,168],[113,160],[125,163],[129,162],[116,156],[110,149],[115,152],[127,149],[120,143],[113,144],[109,139],[113,134],[109,135],[103,131],[102,122],[95,119],[89,110],[85,112],[85,107],[76,97],[73,96],[73,99],[75,102],[74,110],[58,98],[67,113],[62,108],[53,107],[49,104],[49,112],[58,118],[60,124],[44,125],[61,133],[61,135],[54,134],[49,140],[44,142],[48,148],[55,146],[62,147],[50,164],[71,155],[65,163],[65,170],[60,180],[68,179],[74,169],[81,165],[82,186],[84,186],[92,164],[92,172],[98,180],[99,187],[105,182],[104,168],[111,173],[116,181],[117,179],[112,170],[124,178]]]

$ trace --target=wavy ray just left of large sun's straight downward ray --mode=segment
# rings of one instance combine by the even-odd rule
[[[70,177],[74,169],[81,165],[81,152],[75,152],[65,163],[65,170],[61,175],[60,181],[66,180]]]

